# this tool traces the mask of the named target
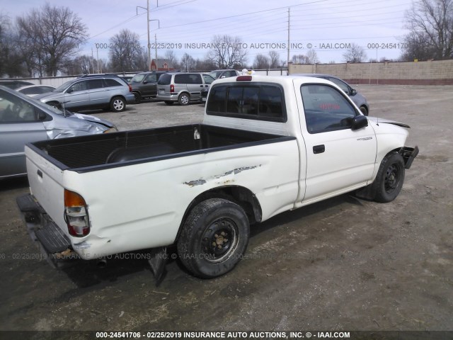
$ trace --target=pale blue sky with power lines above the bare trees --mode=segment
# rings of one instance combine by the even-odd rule
[[[80,55],[108,59],[108,44],[122,29],[137,33],[148,45],[147,0],[2,0],[0,13],[15,21],[33,8],[50,3],[66,6],[88,28],[89,38],[79,46]],[[396,60],[401,38],[408,33],[404,15],[412,0],[149,0],[151,58],[173,50],[204,59],[214,35],[239,37],[247,63],[256,55],[275,50],[305,55],[315,50],[319,62],[345,62],[351,44],[365,49],[366,61]],[[157,42],[157,44],[156,44]],[[97,48],[96,48],[97,47]]]

